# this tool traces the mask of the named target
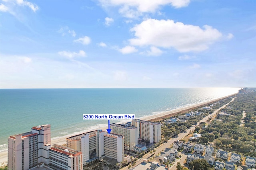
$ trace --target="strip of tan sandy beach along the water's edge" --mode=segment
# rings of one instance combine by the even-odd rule
[[[233,95],[234,94],[229,95],[229,96],[233,96]],[[206,105],[208,105],[210,103],[214,103],[214,102],[216,102],[218,100],[227,98],[229,96],[225,96],[225,97],[218,98],[218,99],[215,99],[215,100],[211,100],[211,101],[208,101],[208,102],[203,102],[203,103],[200,103],[200,104],[195,104],[195,105],[191,105],[191,106],[187,106],[187,107],[181,107],[181,108],[170,110],[170,111],[165,111],[165,112],[162,112],[162,113],[159,113],[159,114],[155,114],[155,115],[149,115],[149,116],[141,117],[140,119],[147,120],[147,121],[160,121],[160,120],[162,120],[164,118],[176,115],[177,113],[186,113],[186,112],[188,112],[190,110],[196,109],[198,107],[206,106]],[[99,128],[97,128],[97,129],[99,129]],[[94,130],[97,130],[97,129],[94,129]],[[103,131],[106,131],[106,129],[108,129],[108,127],[107,126],[103,126],[103,127],[100,127],[100,129],[102,129]],[[81,133],[86,133],[86,132],[87,132],[87,130],[79,132],[79,133],[74,133],[72,135],[65,135],[63,137],[53,138],[51,140],[51,143],[52,144],[63,145],[63,144],[66,143],[66,138],[74,136],[74,135],[78,135],[78,134],[81,134]],[[8,156],[7,150],[4,150],[4,151],[0,152],[0,167],[7,165],[7,156]]]

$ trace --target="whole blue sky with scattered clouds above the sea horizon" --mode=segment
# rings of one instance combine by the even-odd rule
[[[255,0],[0,0],[0,88],[256,86]]]

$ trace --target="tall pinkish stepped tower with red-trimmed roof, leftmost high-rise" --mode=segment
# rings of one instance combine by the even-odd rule
[[[28,170],[40,162],[48,165],[51,126],[32,127],[30,132],[8,138],[8,170]]]

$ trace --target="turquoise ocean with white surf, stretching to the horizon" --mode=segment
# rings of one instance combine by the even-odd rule
[[[135,114],[136,119],[237,93],[239,88],[0,89],[0,151],[8,137],[50,124],[52,138],[106,126],[85,113]],[[118,123],[111,120],[110,123]]]

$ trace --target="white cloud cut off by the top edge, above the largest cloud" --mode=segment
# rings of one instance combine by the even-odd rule
[[[104,7],[119,6],[119,13],[127,18],[141,16],[143,13],[154,13],[162,6],[174,8],[188,6],[190,0],[99,0]]]

